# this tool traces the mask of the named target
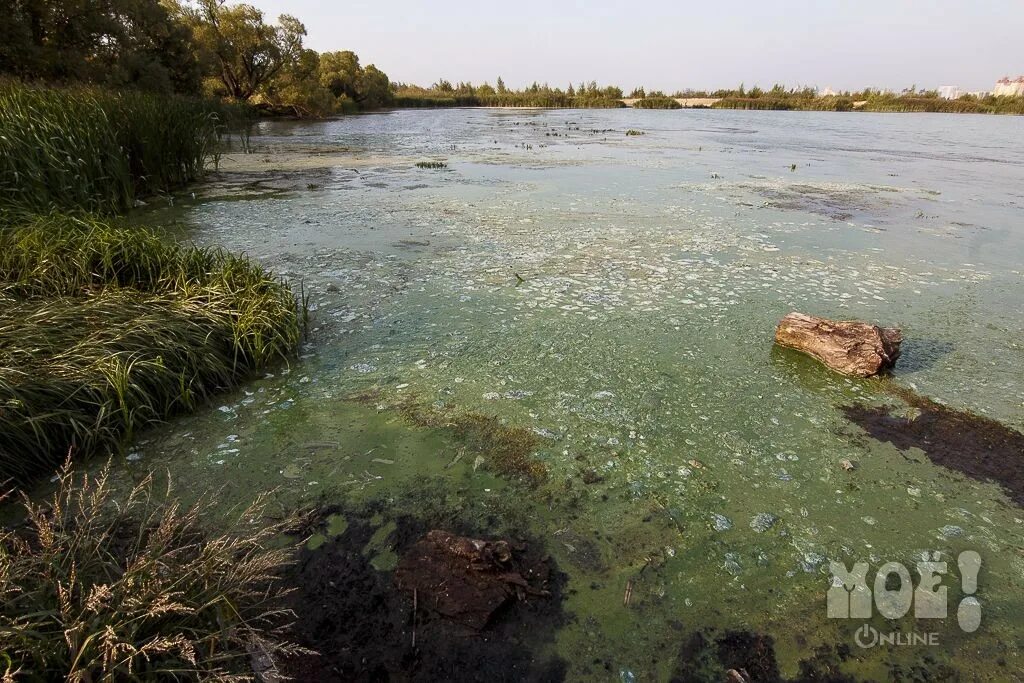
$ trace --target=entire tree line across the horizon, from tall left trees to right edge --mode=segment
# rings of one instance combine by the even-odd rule
[[[428,87],[392,83],[351,51],[306,48],[305,26],[227,0],[2,0],[0,76],[46,84],[203,95],[264,113],[329,116],[381,106],[623,106],[622,88],[595,81],[566,88],[532,83],[515,90],[439,79]],[[679,90],[634,88],[642,109],[676,109],[676,98],[709,97],[715,106],[751,110],[853,109],[884,112],[1024,113],[1024,98],[955,100],[911,86],[900,93],[864,89],[827,96],[815,88]]]

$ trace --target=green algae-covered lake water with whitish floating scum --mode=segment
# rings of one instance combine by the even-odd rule
[[[1022,132],[724,111],[263,123],[257,154],[144,217],[301,280],[309,342],[142,436],[131,467],[225,502],[280,486],[414,511],[427,477],[480,518],[519,515],[569,578],[549,649],[573,679],[667,679],[706,627],[772,635],[787,676],[846,645],[857,676],[928,656],[1002,679],[1021,669],[1024,515],[867,438],[839,407],[886,400],[879,384],[772,335],[791,310],[899,326],[900,385],[1024,428]],[[499,476],[494,444],[451,427],[467,416],[528,434],[543,481]],[[828,560],[963,550],[983,558],[977,633],[904,621],[941,645],[860,650],[860,622],[825,618]]]

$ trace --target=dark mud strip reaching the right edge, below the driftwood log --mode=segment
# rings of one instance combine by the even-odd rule
[[[966,411],[919,396],[907,389],[891,391],[916,409],[904,417],[891,405],[858,403],[842,407],[844,415],[872,438],[900,451],[920,449],[929,460],[974,479],[994,481],[1018,506],[1024,506],[1024,434]]]

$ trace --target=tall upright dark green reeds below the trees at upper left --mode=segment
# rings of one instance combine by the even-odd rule
[[[198,179],[227,112],[216,102],[0,82],[0,210],[119,213]]]

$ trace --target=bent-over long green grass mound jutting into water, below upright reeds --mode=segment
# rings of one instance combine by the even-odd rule
[[[93,219],[0,230],[0,481],[105,453],[294,353],[304,305],[221,250]]]

